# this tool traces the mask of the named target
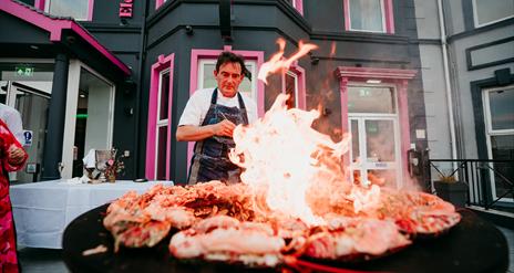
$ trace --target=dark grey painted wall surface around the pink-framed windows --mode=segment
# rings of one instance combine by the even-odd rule
[[[153,3],[152,3],[153,2]],[[150,88],[151,65],[160,54],[175,53],[173,128],[182,115],[189,97],[191,50],[220,50],[230,44],[233,50],[264,51],[267,60],[277,51],[276,40],[287,41],[286,55],[296,51],[299,40],[311,41],[320,46],[312,55],[320,62],[311,64],[304,57],[299,64],[306,70],[307,107],[319,105],[329,109],[316,123],[316,127],[340,139],[340,97],[339,82],[333,71],[339,65],[360,65],[374,67],[419,69],[419,50],[415,42],[417,30],[412,1],[394,1],[395,34],[370,34],[345,32],[342,1],[304,0],[304,17],[285,1],[233,1],[233,41],[224,41],[219,32],[218,1],[168,1],[157,11],[151,1],[147,21],[147,59],[144,65],[143,90]],[[187,35],[185,27],[193,27],[193,35]],[[336,55],[330,56],[332,42]],[[409,84],[411,134],[415,128],[425,128],[424,104],[421,82],[417,78]],[[278,76],[269,78],[266,86],[265,107],[275,101],[280,91]],[[147,94],[141,102],[147,105]],[[145,113],[144,111],[142,113]],[[141,127],[146,128],[146,113],[141,119]],[[138,146],[145,147],[146,132],[142,132]],[[174,136],[173,136],[174,137]],[[419,143],[425,147],[425,143]],[[186,144],[172,143],[172,179],[186,181]],[[140,157],[140,172],[144,172],[145,158]]]

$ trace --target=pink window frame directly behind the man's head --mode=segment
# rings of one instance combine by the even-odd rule
[[[230,45],[225,45],[223,50],[199,50],[194,49],[191,51],[191,73],[189,73],[189,96],[195,93],[198,87],[198,63],[202,59],[217,59],[218,55],[224,51],[230,51],[245,57],[245,60],[257,61],[257,71],[264,63],[263,51],[238,51],[232,50]],[[264,115],[264,83],[257,81],[257,114],[258,116]],[[189,171],[191,158],[193,156],[194,141],[187,144],[187,171]]]

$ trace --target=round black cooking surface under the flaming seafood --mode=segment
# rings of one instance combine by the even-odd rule
[[[63,260],[72,272],[247,272],[241,266],[198,261],[177,261],[171,256],[169,235],[154,248],[121,248],[113,253],[113,238],[102,224],[107,204],[91,210],[66,228],[63,235]],[[508,246],[505,237],[493,224],[482,220],[471,210],[461,210],[461,222],[435,239],[418,239],[397,253],[359,263],[329,265],[351,272],[506,272]],[[83,256],[82,251],[99,244],[107,248],[104,253]],[[264,270],[263,270],[264,271]],[[268,270],[279,272],[278,270]],[[256,272],[256,271],[254,271]],[[257,271],[260,272],[260,271]]]

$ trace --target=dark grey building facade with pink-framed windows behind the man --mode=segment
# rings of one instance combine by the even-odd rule
[[[18,1],[3,2],[23,6]],[[48,18],[52,17],[40,11],[70,15],[64,7],[52,9],[53,4],[64,6],[61,1],[25,2],[33,7],[30,10]],[[82,13],[74,17],[83,19],[73,22],[130,67],[127,75],[120,73],[114,80],[97,73],[116,86],[114,109],[110,112],[112,141],[105,144],[130,155],[127,178],[186,181],[192,145],[175,140],[177,122],[195,90],[214,87],[215,59],[227,50],[246,59],[253,76],[251,81],[245,80],[240,91],[257,102],[259,115],[270,107],[278,93],[291,94],[291,106],[320,109],[322,115],[315,124],[318,130],[333,140],[340,140],[345,133],[352,135],[347,162],[354,179],[381,177],[384,183],[402,187],[415,178],[418,172],[409,166],[408,151],[426,148],[426,122],[414,2],[78,2],[88,4],[72,7],[82,7]],[[9,18],[9,12],[1,15]],[[23,24],[22,20],[19,23]],[[286,42],[285,56],[291,55],[300,41],[315,43],[319,49],[298,60],[289,71],[270,76],[265,85],[257,81],[257,72],[277,52],[278,39]],[[18,39],[12,43],[27,42]],[[18,52],[2,60],[23,60],[23,54]],[[88,56],[80,60],[92,61]],[[113,71],[106,65],[103,69],[105,73]],[[54,99],[54,85],[50,101]],[[68,86],[65,92],[71,88]],[[80,85],[78,90],[76,94]],[[76,105],[76,101],[69,103]],[[73,114],[75,119],[83,115]],[[92,119],[91,115],[88,111],[85,119]],[[69,128],[63,130],[64,139]],[[89,146],[71,145],[72,150],[73,146],[79,147],[75,159],[82,158],[86,147],[100,145],[85,139]],[[65,158],[63,151],[62,158],[54,161]]]

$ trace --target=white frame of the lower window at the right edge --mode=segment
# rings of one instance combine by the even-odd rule
[[[496,91],[505,91],[505,90],[514,90],[514,85],[508,85],[508,86],[505,86],[505,87],[493,87],[493,88],[483,88],[482,90],[482,102],[484,102],[484,118],[485,118],[485,141],[486,141],[486,145],[487,145],[487,157],[491,158],[491,159],[494,159],[493,158],[493,150],[492,150],[492,144],[491,144],[491,137],[492,136],[510,136],[510,135],[514,135],[514,128],[513,129],[501,129],[501,130],[494,130],[492,127],[492,119],[491,119],[491,104],[490,104],[490,98],[489,98],[489,94],[491,92],[496,92]],[[492,170],[493,166],[491,166],[492,164],[490,164],[490,182],[491,182],[491,193],[493,196],[493,199],[496,199],[497,198],[497,195],[496,195],[496,183],[495,183],[495,179],[494,179],[494,172]],[[514,202],[514,198],[502,198],[502,201],[506,201],[506,202]]]

